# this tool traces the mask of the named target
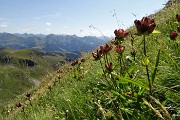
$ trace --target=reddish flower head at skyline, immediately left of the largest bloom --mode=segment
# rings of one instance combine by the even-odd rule
[[[114,34],[116,36],[116,39],[123,39],[128,35],[128,31],[123,30],[123,29],[119,29],[119,30],[115,30]]]

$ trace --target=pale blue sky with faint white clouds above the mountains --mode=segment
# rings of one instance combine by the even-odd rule
[[[167,1],[0,0],[0,32],[113,36],[115,29],[128,28]]]

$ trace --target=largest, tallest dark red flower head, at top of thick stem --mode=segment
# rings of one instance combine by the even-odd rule
[[[143,17],[140,20],[135,20],[134,24],[136,26],[136,29],[138,31],[138,34],[150,34],[153,32],[153,30],[156,27],[156,24],[154,22],[154,19],[150,19],[148,17]]]

